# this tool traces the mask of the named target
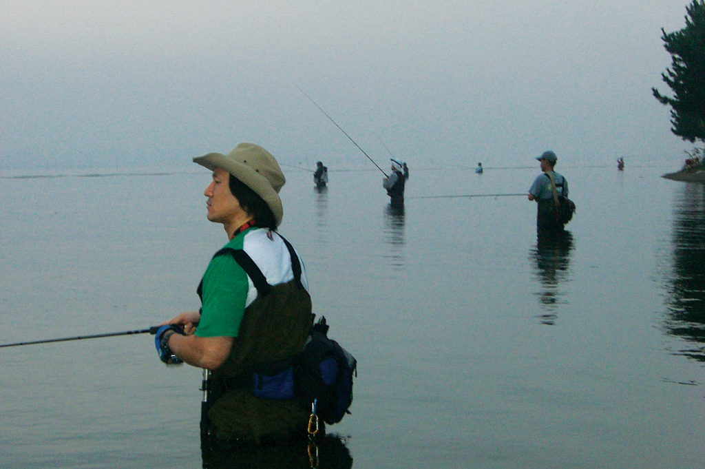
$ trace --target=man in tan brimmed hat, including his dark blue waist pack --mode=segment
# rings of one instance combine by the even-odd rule
[[[312,403],[329,423],[350,406],[355,359],[327,339],[325,324],[314,327],[304,264],[276,231],[283,173],[250,143],[193,161],[212,171],[207,218],[228,243],[197,288],[200,310],[161,324],[159,358],[205,370],[202,435],[259,443],[315,434]]]

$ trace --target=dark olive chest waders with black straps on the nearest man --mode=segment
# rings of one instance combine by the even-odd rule
[[[214,255],[231,255],[257,288],[257,298],[245,308],[228,358],[212,371],[209,384],[209,426],[223,438],[258,440],[261,435],[307,422],[308,413],[295,398],[257,398],[232,384],[255,368],[289,363],[301,353],[308,339],[312,327],[311,297],[301,283],[298,256],[292,245],[282,239],[294,273],[294,278],[283,284],[269,285],[244,250],[223,248]],[[202,284],[197,292],[202,299]]]

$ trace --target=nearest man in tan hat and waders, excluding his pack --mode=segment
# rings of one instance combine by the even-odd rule
[[[216,252],[198,288],[200,311],[183,312],[157,332],[159,358],[212,371],[202,434],[221,441],[287,437],[305,429],[307,410],[294,398],[259,398],[235,384],[259,363],[300,353],[312,326],[303,264],[276,232],[285,178],[276,159],[250,143],[193,161],[212,171],[204,191],[207,218],[223,224],[228,243]],[[250,275],[252,264],[241,267],[243,257],[264,278]]]

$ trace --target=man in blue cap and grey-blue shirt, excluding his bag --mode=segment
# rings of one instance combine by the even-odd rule
[[[529,200],[538,202],[537,229],[539,230],[562,230],[563,223],[556,217],[556,195],[568,197],[568,181],[563,176],[553,171],[558,157],[548,150],[537,157],[541,162],[542,174],[539,174],[531,188],[529,188]],[[553,186],[556,188],[556,195],[553,194]]]

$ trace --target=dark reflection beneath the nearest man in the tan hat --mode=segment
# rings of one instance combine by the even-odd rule
[[[209,438],[209,437],[206,437]],[[306,437],[262,444],[201,441],[203,467],[209,469],[350,469],[350,456],[345,440],[336,434],[318,437],[315,442]]]

